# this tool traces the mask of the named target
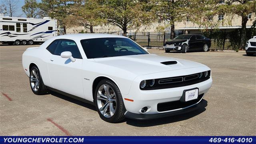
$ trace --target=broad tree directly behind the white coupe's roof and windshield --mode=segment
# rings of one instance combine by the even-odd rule
[[[101,0],[101,14],[107,23],[118,26],[127,34],[128,28],[149,24],[152,14],[146,8],[147,0]]]

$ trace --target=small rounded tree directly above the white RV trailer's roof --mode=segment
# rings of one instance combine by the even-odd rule
[[[38,16],[38,10],[39,8],[36,0],[25,0],[25,4],[22,6],[22,11],[28,18],[36,18]]]

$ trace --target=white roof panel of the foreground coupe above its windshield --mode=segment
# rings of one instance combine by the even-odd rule
[[[54,39],[71,39],[71,40],[83,40],[90,38],[127,38],[126,36],[120,36],[115,34],[65,34],[56,36]]]

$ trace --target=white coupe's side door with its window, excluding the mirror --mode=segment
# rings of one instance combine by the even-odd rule
[[[55,40],[47,48],[52,55],[48,60],[48,70],[53,88],[84,98],[82,86],[82,56],[73,40]],[[70,51],[76,59],[72,62],[60,54]]]

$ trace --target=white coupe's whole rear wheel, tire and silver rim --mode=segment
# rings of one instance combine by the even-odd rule
[[[34,94],[43,95],[47,93],[47,87],[44,85],[41,73],[37,66],[32,66],[30,69],[29,83]]]

